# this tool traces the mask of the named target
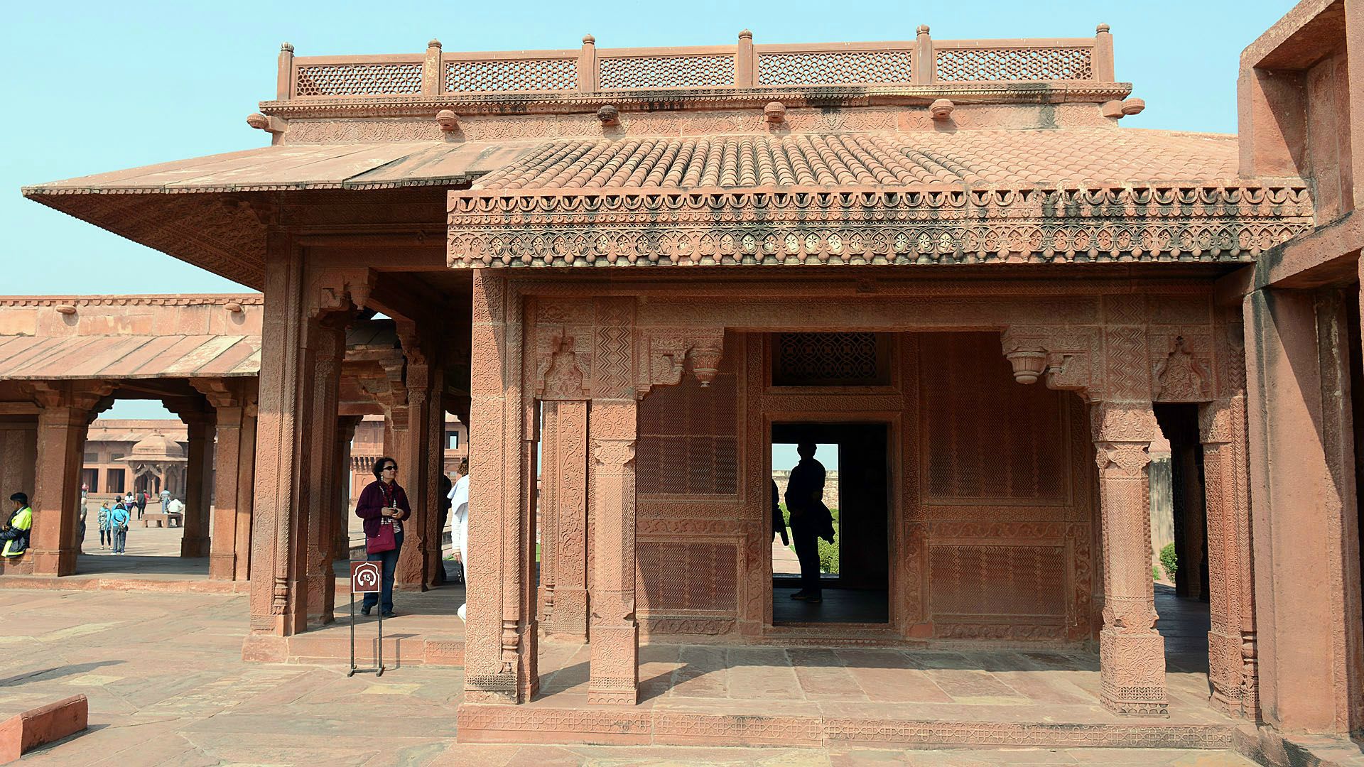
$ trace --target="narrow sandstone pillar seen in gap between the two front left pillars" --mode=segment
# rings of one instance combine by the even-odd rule
[[[546,504],[546,525],[542,536],[552,550],[554,611],[548,617],[552,636],[587,641],[588,639],[588,404],[581,400],[546,403],[544,442],[555,446],[546,453],[542,472],[542,500],[550,493],[552,506]],[[552,536],[552,540],[550,538]],[[544,572],[542,557],[542,573]]]

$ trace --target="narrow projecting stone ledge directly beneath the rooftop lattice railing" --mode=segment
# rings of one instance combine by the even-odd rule
[[[772,101],[787,108],[928,106],[949,98],[963,104],[1102,104],[1127,98],[1132,83],[1093,81],[958,82],[884,86],[772,86],[753,89],[657,89],[446,96],[297,97],[262,101],[263,115],[282,119],[434,117],[456,115],[591,113],[610,104],[622,112],[758,109]]]

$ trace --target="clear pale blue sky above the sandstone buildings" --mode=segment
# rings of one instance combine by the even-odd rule
[[[211,292],[239,285],[25,201],[19,187],[267,143],[281,41],[300,56],[597,46],[1088,37],[1113,29],[1124,126],[1236,131],[1243,48],[1289,0],[747,3],[8,3],[0,25],[0,295]]]

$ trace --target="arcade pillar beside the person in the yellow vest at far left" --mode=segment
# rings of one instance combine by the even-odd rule
[[[33,528],[27,555],[33,557],[33,575],[68,576],[76,572],[86,431],[95,403],[112,390],[108,385],[71,382],[37,388],[34,399],[42,409],[38,412],[38,463],[30,498]]]

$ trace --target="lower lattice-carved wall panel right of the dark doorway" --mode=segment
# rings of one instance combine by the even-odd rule
[[[1065,616],[1064,546],[929,546],[929,600],[944,616]]]

